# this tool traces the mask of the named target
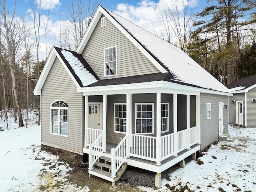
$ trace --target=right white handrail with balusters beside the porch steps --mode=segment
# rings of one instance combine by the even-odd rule
[[[129,154],[129,135],[122,139],[122,141],[116,146],[116,148],[111,149],[111,177],[116,176],[116,172],[122,166]],[[116,163],[113,163],[116,162]]]

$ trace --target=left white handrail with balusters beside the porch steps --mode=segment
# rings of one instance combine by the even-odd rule
[[[99,159],[99,157],[103,154],[103,141],[104,141],[104,132],[102,132],[98,138],[89,144],[89,168],[92,169],[94,163]]]

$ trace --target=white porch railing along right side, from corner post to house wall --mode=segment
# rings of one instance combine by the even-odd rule
[[[161,137],[161,161],[200,142],[198,126]],[[177,141],[175,143],[174,141]]]

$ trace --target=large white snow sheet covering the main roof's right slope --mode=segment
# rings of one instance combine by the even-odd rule
[[[176,46],[158,38],[117,14],[107,12],[119,22],[132,36],[173,74],[176,82],[183,82],[201,88],[229,92],[222,83],[196,63],[190,56]]]

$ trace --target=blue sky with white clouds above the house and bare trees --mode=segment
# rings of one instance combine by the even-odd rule
[[[2,1],[2,0],[1,0]],[[35,0],[34,0],[35,1]],[[165,38],[162,31],[164,30],[163,23],[159,21],[159,15],[161,10],[163,10],[163,5],[168,5],[174,2],[186,2],[189,8],[194,8],[194,12],[202,11],[203,6],[206,5],[206,0],[90,0],[91,2],[96,1],[102,2],[102,6],[116,12],[123,18],[137,24],[138,26],[158,35],[161,38]],[[6,0],[6,11],[10,11],[12,14],[14,10],[14,0]],[[19,0],[16,5],[16,15],[27,18],[28,22],[31,18],[31,14],[28,10],[31,9],[31,2],[33,0]],[[65,8],[66,4],[70,0],[37,0],[37,2],[42,2],[46,8],[50,9],[50,18],[47,33],[47,44],[43,42],[44,37],[42,36],[40,40],[40,57],[45,58],[47,53],[50,51],[52,46],[59,46],[58,34],[60,33],[62,27],[69,21],[65,20]],[[51,2],[51,7],[49,7]],[[182,7],[182,6],[181,6]],[[0,8],[1,9],[1,8]],[[45,18],[48,16],[48,10],[45,12]],[[180,16],[182,17],[182,8],[180,9]],[[33,26],[32,23],[30,26]],[[42,26],[40,28],[40,34],[45,34],[45,28]],[[161,35],[162,34],[162,35]],[[166,34],[165,34],[166,35]],[[175,42],[175,37],[172,34],[171,41]],[[166,38],[165,38],[166,39]],[[48,47],[46,51],[46,46]]]

